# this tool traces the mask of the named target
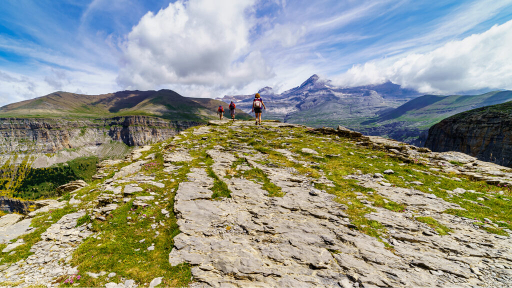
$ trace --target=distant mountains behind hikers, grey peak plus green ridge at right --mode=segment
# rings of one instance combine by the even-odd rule
[[[422,95],[390,81],[379,85],[334,87],[312,75],[298,87],[276,94],[258,92],[267,106],[264,118],[312,127],[342,125],[367,135],[384,136],[423,146],[428,129],[440,120],[478,107],[512,100],[512,91],[479,95]],[[254,95],[226,95],[250,113]]]

